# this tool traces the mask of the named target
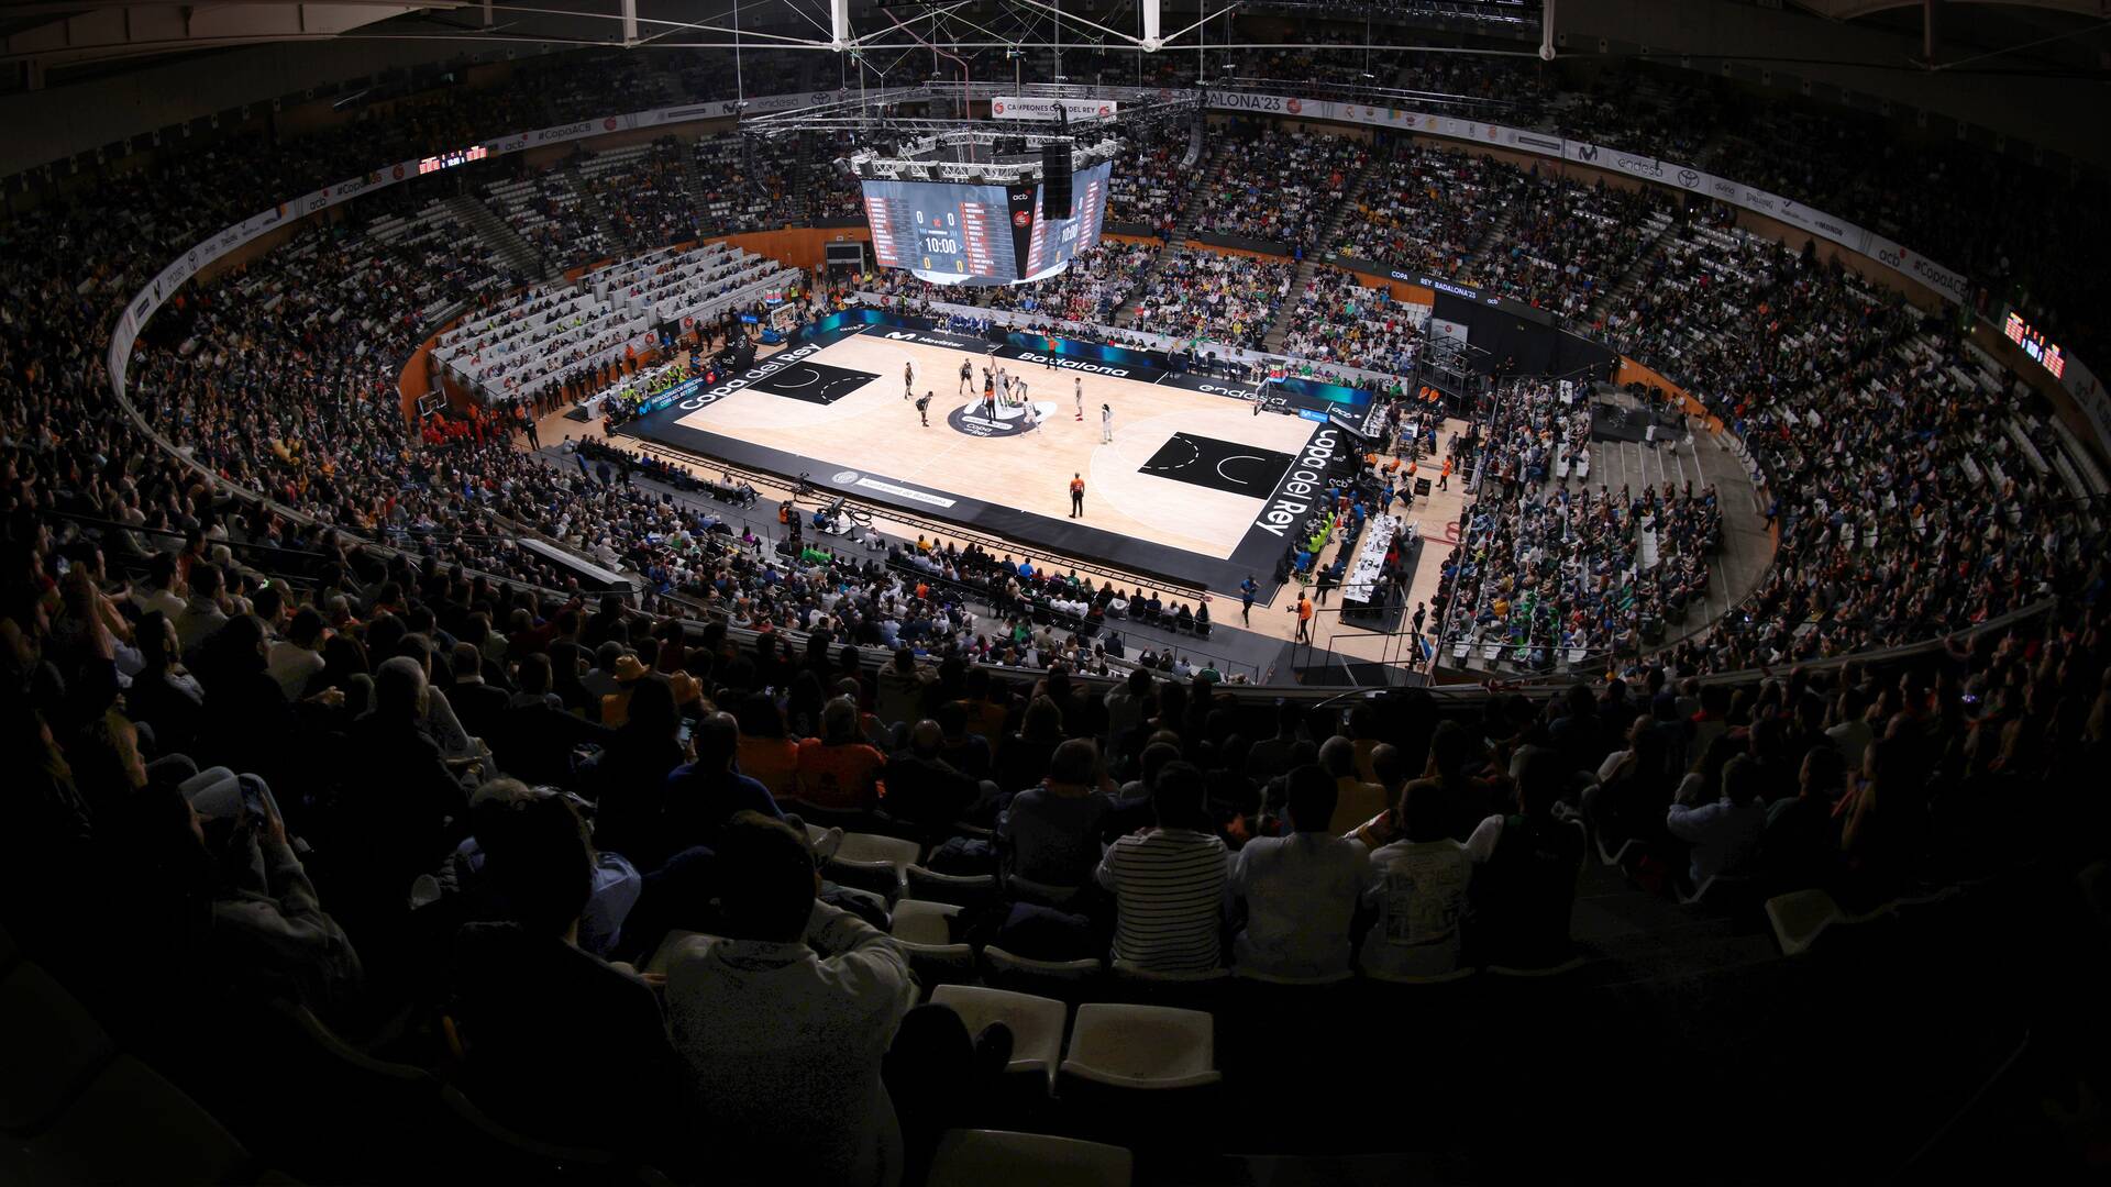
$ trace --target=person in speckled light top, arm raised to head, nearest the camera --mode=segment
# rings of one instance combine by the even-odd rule
[[[880,1060],[916,980],[895,942],[815,900],[806,839],[741,813],[718,845],[722,936],[667,957],[697,1149],[768,1151],[771,1183],[893,1183],[901,1134]]]

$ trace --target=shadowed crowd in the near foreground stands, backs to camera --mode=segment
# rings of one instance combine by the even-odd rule
[[[84,458],[8,450],[36,477]],[[1592,834],[1642,885],[1851,910],[1982,872],[1986,803],[2058,796],[2073,828],[2041,860],[2103,836],[2100,796],[2073,792],[2107,741],[2100,604],[1898,676],[1651,667],[1459,720],[1425,693],[1271,708],[1205,674],[1013,678],[908,644],[874,672],[838,627],[885,600],[815,606],[804,646],[735,644],[342,539],[312,541],[300,585],[207,539],[127,581],[122,530],[40,515],[72,494],[4,507],[17,948],[201,1094],[304,1086],[230,1041],[277,999],[498,1124],[682,1181],[762,1149],[768,1174],[891,1181],[1007,1062],[1003,1031],[929,1033],[897,883],[832,862],[844,826],[1009,887],[961,910],[971,948],[1267,978],[1558,967]],[[1657,494],[1579,509],[1634,507]],[[952,1060],[950,1103],[925,1060]]]

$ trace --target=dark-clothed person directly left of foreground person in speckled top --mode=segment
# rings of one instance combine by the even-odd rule
[[[652,988],[578,948],[593,893],[585,822],[555,794],[486,803],[486,872],[511,921],[469,923],[454,940],[469,1096],[540,1141],[659,1157],[678,1062]]]

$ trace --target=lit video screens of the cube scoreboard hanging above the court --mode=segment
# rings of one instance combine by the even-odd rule
[[[882,268],[939,285],[1009,285],[1060,272],[1100,243],[1106,224],[1102,161],[1070,182],[1068,218],[1043,218],[1041,184],[868,180],[866,222]]]

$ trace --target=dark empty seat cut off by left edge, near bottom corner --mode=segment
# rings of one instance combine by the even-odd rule
[[[0,1130],[42,1128],[116,1048],[95,1016],[34,961],[0,978]]]

